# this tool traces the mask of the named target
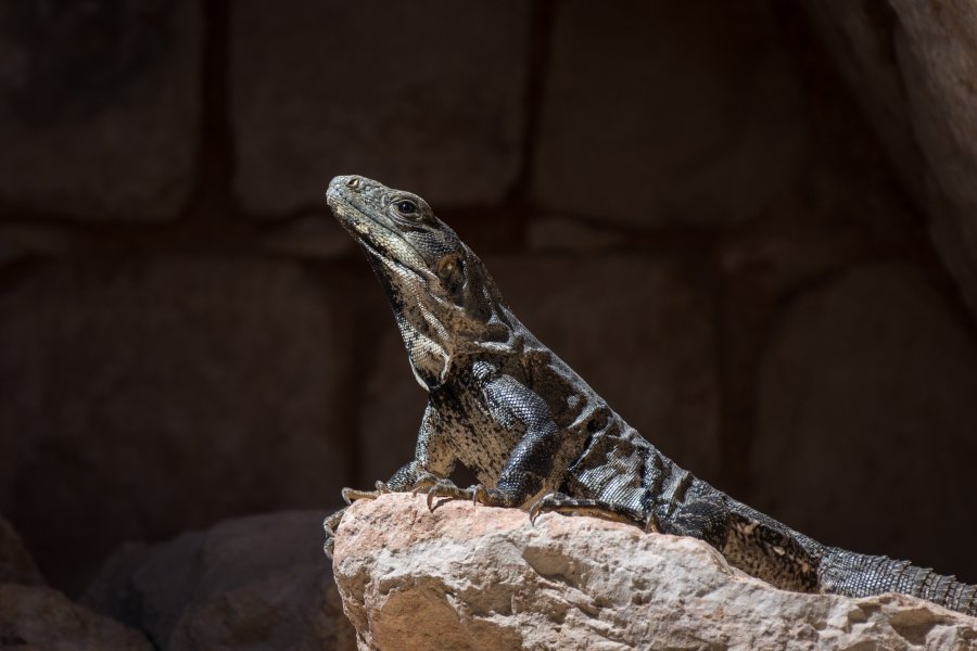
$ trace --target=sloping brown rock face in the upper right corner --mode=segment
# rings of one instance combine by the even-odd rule
[[[977,9],[804,0],[977,314]]]

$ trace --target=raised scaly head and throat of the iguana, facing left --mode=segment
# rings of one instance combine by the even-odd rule
[[[495,283],[428,202],[361,176],[335,177],[326,200],[383,285],[421,386],[470,346],[508,339]]]

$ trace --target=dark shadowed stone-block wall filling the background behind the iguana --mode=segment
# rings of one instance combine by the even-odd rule
[[[977,100],[909,4],[4,3],[0,513],[77,592],[406,461],[424,395],[323,203],[356,173],[682,465],[977,580]]]

